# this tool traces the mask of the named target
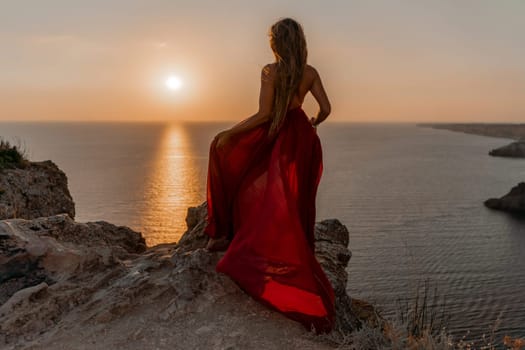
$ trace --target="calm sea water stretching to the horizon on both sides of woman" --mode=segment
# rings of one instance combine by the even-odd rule
[[[77,220],[176,241],[205,197],[209,141],[229,124],[0,124],[69,178]],[[525,161],[487,152],[509,140],[395,124],[320,127],[318,219],[350,230],[348,289],[387,313],[429,279],[456,335],[525,336],[525,221],[483,206],[525,179]]]

